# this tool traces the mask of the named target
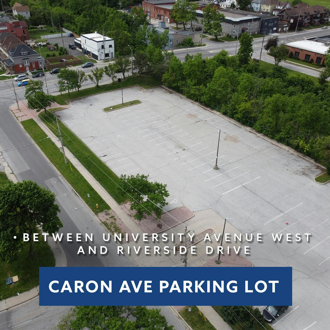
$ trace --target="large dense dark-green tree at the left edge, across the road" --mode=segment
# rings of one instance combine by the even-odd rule
[[[57,232],[63,227],[57,216],[59,212],[55,194],[36,182],[9,182],[0,186],[0,257],[6,262],[15,260],[24,244],[23,233],[29,233],[30,256],[33,256],[32,234],[38,227],[44,233]]]

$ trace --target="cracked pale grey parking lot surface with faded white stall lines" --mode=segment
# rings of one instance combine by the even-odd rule
[[[167,183],[166,210],[213,209],[242,233],[262,233],[262,244],[248,244],[248,259],[255,266],[293,267],[293,306],[275,329],[328,329],[330,190],[313,181],[320,170],[162,87],[123,93],[124,102],[142,103],[103,112],[121,103],[117,90],[73,101],[58,115],[116,174],[149,174]],[[271,233],[312,237],[275,244]]]

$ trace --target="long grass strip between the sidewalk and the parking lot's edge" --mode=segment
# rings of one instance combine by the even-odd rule
[[[64,110],[65,111],[65,110]],[[48,126],[48,128],[58,136],[57,126],[54,125],[53,120],[55,116],[52,113],[45,114],[42,112],[39,117],[42,121]],[[108,166],[105,164],[93,151],[91,151],[83,142],[80,140],[77,135],[75,135],[63,122],[59,121],[60,130],[62,133],[63,144],[67,149],[71,151],[71,153],[80,161],[82,166],[90,173],[92,177],[96,181],[98,181],[103,188],[109,193],[109,195],[117,202],[122,203],[124,202],[127,197],[123,194],[122,190],[118,187],[118,183],[120,178],[114,173]],[[77,181],[78,183],[79,181]],[[88,191],[83,192],[86,195]],[[84,198],[83,198],[84,199]],[[88,200],[85,200],[87,202]],[[98,203],[97,201],[92,201],[92,205]],[[101,207],[100,203],[98,203],[101,210],[104,210]],[[107,209],[107,207],[105,207]],[[93,210],[94,211],[94,210]]]

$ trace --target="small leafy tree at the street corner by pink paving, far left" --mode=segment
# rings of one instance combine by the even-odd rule
[[[35,109],[37,112],[48,108],[53,102],[55,102],[55,96],[47,95],[43,92],[42,84],[40,80],[31,81],[25,89],[25,98],[27,99],[27,106],[29,109]]]

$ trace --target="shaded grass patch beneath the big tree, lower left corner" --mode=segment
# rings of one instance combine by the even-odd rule
[[[31,119],[30,119],[31,120]],[[54,267],[55,258],[47,242],[33,243],[35,256],[29,257],[29,242],[24,243],[18,259],[5,263],[0,261],[0,300],[22,293],[39,284],[39,267]],[[18,282],[6,285],[5,279],[18,276]]]

